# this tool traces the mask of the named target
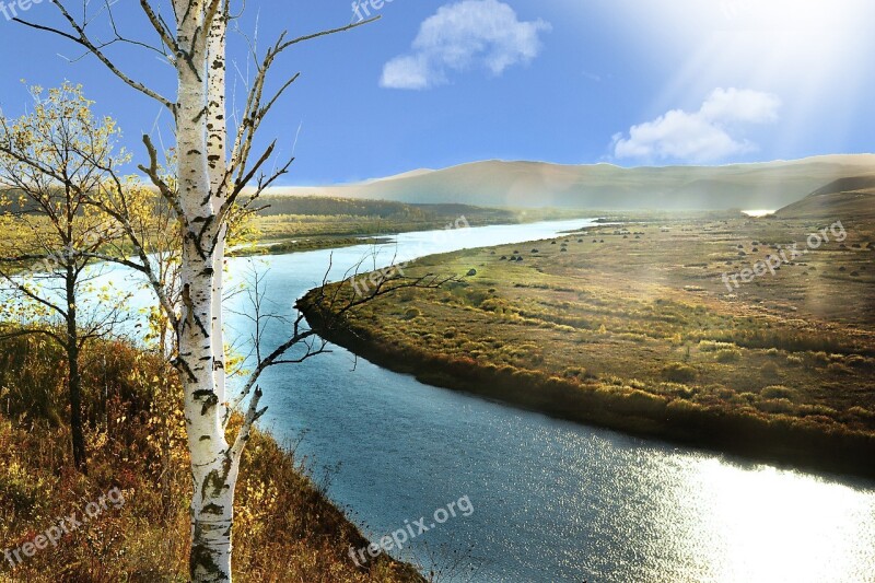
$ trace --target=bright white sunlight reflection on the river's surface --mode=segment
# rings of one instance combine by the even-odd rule
[[[670,488],[654,516],[660,539],[686,560],[649,557],[649,580],[875,581],[871,497],[826,478],[711,456],[675,458],[664,476]]]

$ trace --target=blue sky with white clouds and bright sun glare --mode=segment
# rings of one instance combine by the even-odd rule
[[[0,8],[0,107],[24,112],[28,84],[83,83],[126,144],[172,143],[156,104],[69,42],[8,22]],[[364,0],[360,0],[364,4]],[[100,2],[92,2],[98,4]],[[79,2],[72,2],[70,5]],[[153,2],[154,5],[164,5]],[[578,164],[767,161],[872,152],[875,51],[865,0],[393,0],[382,20],[285,55],[275,82],[302,77],[262,138],[296,155],[287,184],[330,184],[486,159]],[[14,4],[13,4],[14,5]],[[380,5],[380,2],[375,2]],[[166,10],[166,7],[164,7]],[[20,10],[20,9],[16,9]],[[119,30],[153,40],[135,2]],[[23,12],[58,24],[44,0]],[[351,0],[248,0],[232,36],[233,95],[246,39],[264,48],[359,19]],[[108,31],[95,20],[96,30]],[[133,77],[173,94],[173,70],[110,49]]]

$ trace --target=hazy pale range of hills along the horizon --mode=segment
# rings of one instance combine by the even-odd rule
[[[868,174],[875,174],[875,154],[632,168],[490,160],[357,184],[281,187],[270,194],[492,207],[780,209],[835,180]]]

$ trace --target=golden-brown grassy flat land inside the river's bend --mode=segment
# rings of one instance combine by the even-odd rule
[[[331,340],[422,381],[581,422],[875,476],[871,224],[775,273],[734,273],[824,225],[635,217],[556,240],[424,258],[462,276],[334,322]],[[468,276],[465,276],[469,273]],[[349,284],[341,293],[352,293]]]

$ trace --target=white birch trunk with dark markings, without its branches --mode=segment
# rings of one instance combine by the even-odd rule
[[[210,77],[215,73],[208,59],[206,37],[213,24],[206,22],[211,14],[210,2],[190,0],[179,3],[185,7],[177,10],[177,42],[188,58],[177,60],[179,203],[186,223],[180,267],[183,313],[177,334],[194,482],[189,570],[192,581],[198,583],[230,582],[232,478],[235,481],[236,464],[225,440],[223,423],[221,280],[217,283],[223,260],[218,245],[222,229],[218,224],[212,183],[217,174],[211,166],[217,162],[218,166],[224,167],[223,162],[218,162],[224,159],[224,137],[217,141],[214,136],[218,132],[208,130],[208,114],[215,110],[211,107],[208,89],[212,86]],[[220,158],[214,158],[217,155]]]

